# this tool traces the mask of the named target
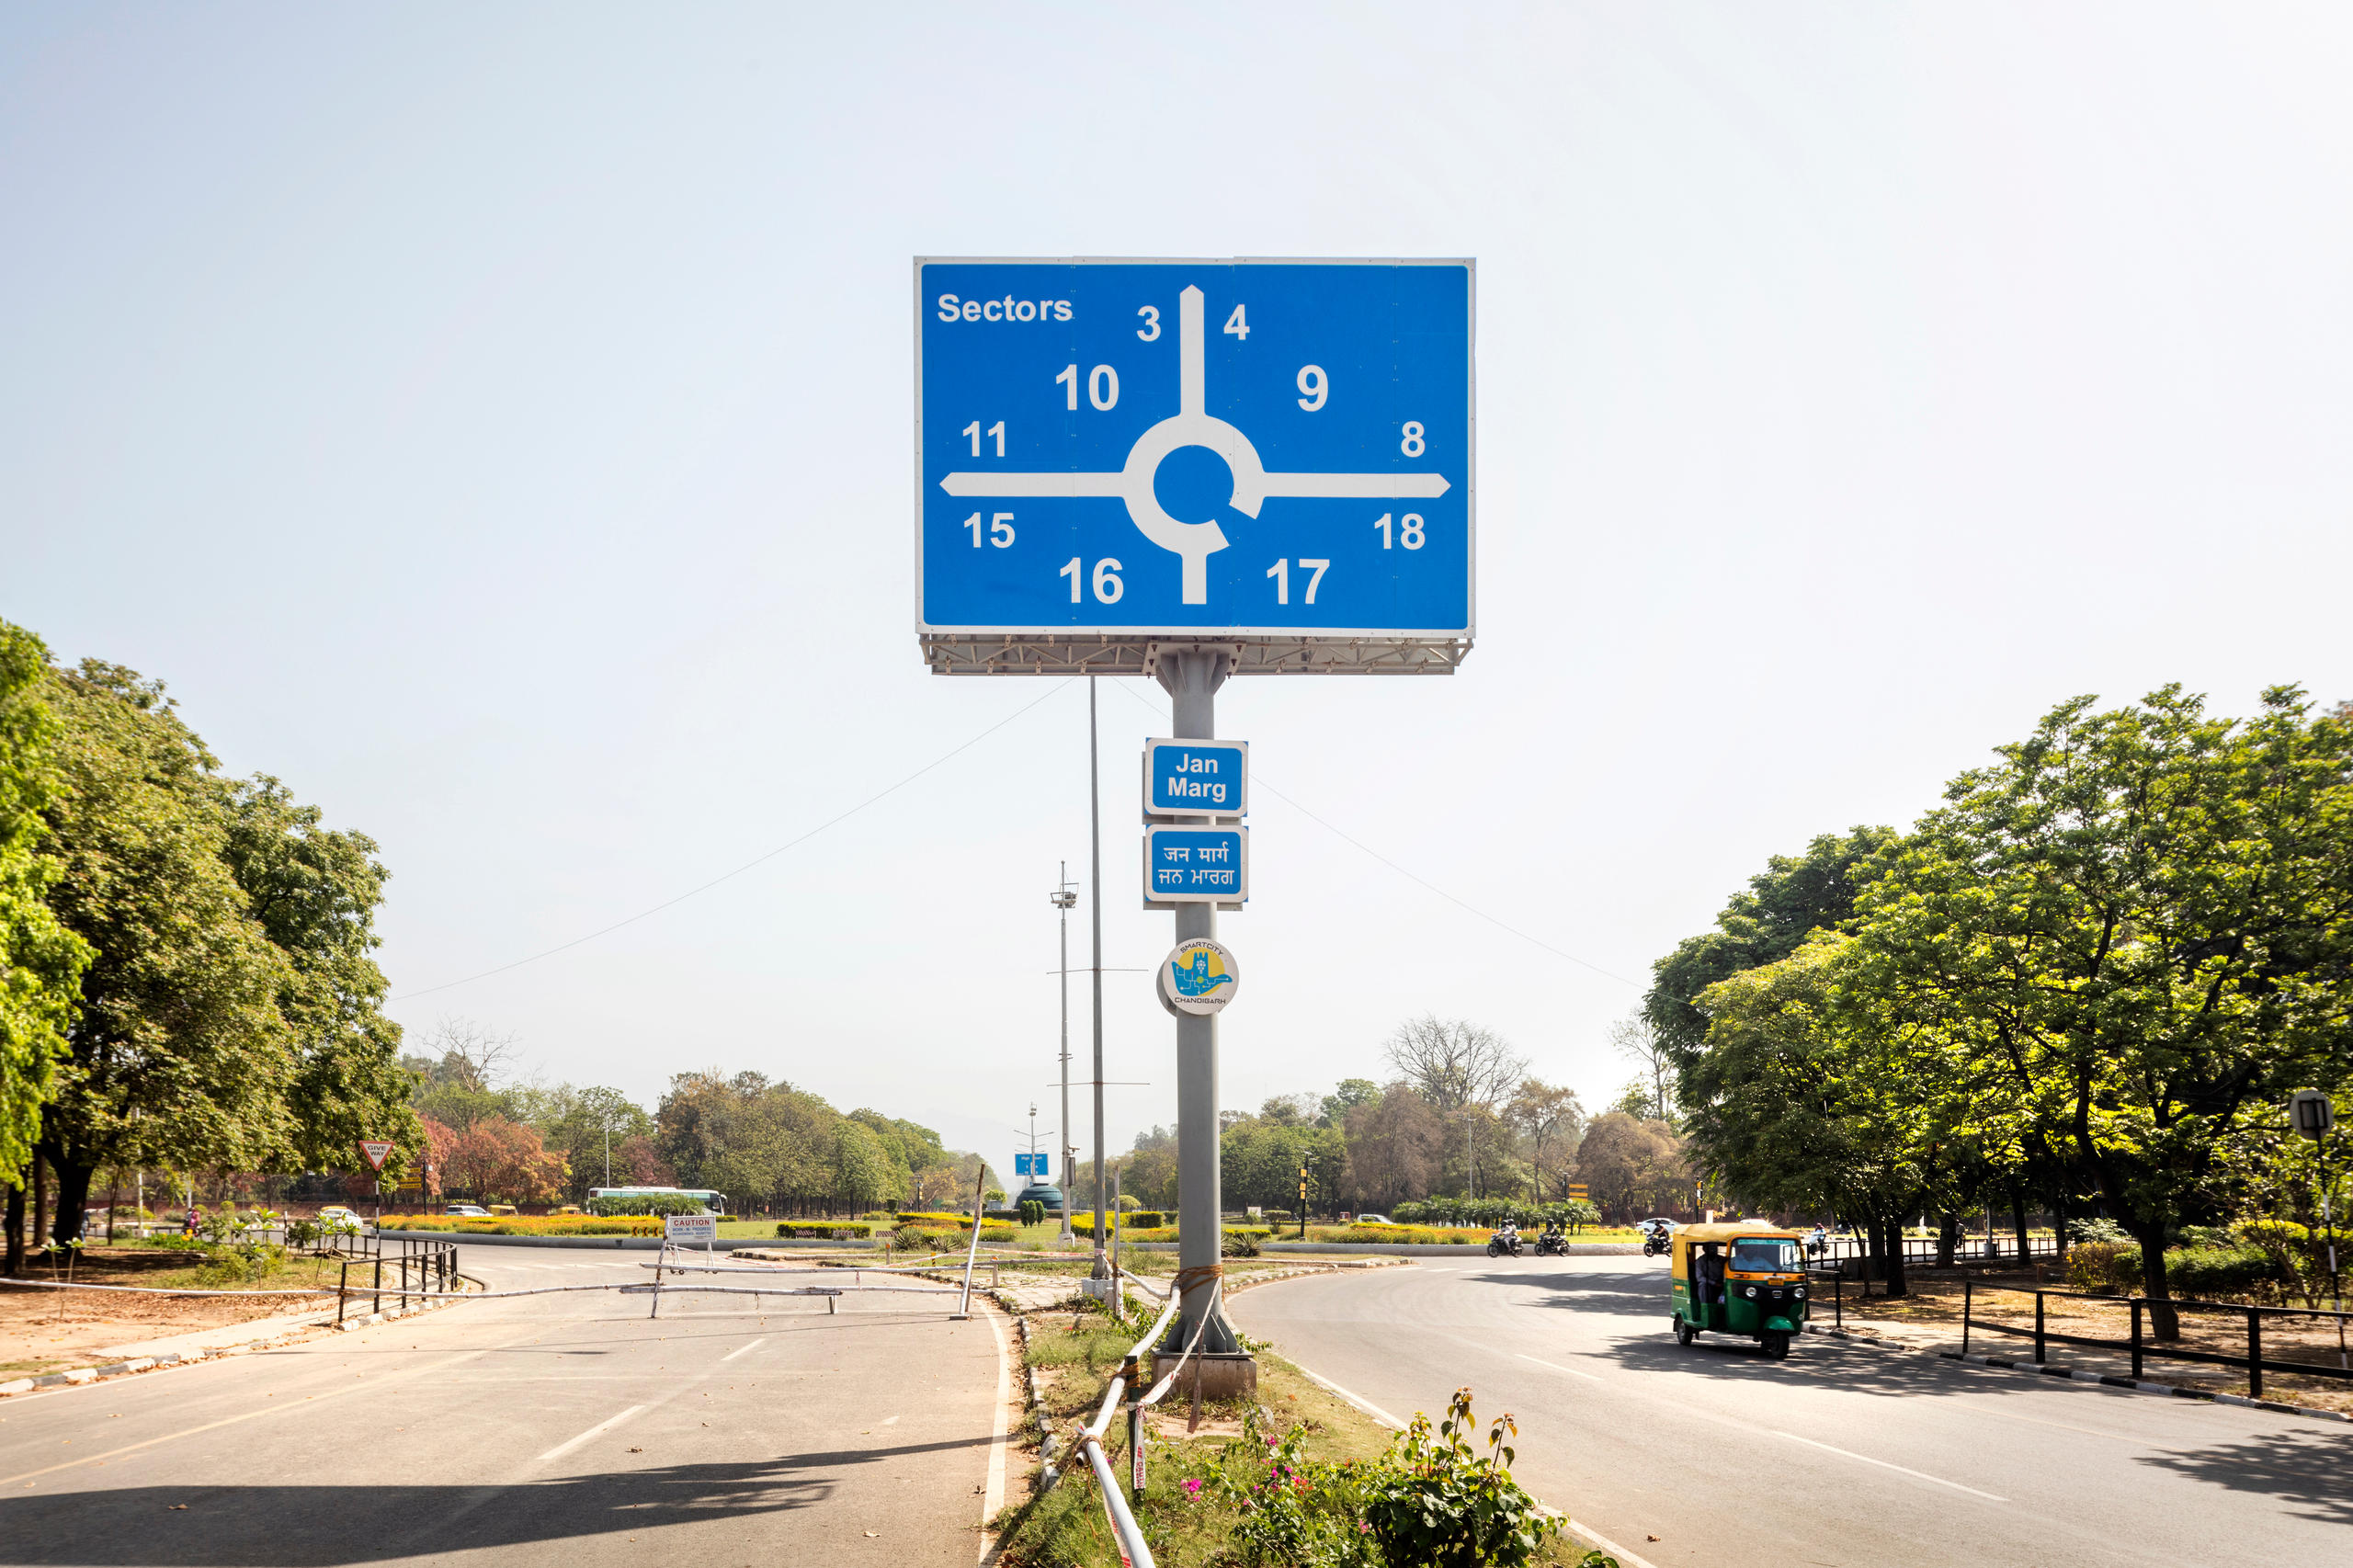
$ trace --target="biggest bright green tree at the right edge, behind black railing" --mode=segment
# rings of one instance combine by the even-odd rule
[[[2219,1217],[2287,1090],[2353,1074],[2353,725],[2297,687],[2245,723],[2078,697],[1955,779],[1859,913],[1852,986],[1984,1064],[1988,1118],[2089,1175],[2162,1302],[2167,1229]]]

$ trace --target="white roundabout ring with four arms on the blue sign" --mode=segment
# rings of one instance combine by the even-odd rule
[[[1160,461],[1176,447],[1209,447],[1233,471],[1233,509],[1257,518],[1271,494],[1315,499],[1428,499],[1447,492],[1442,473],[1268,473],[1249,436],[1209,414],[1209,374],[1202,351],[1202,292],[1176,297],[1176,414],[1136,436],[1118,473],[948,473],[939,487],[955,497],[1120,497],[1146,539],[1184,560],[1184,603],[1209,603],[1209,556],[1226,549],[1226,530],[1179,523],[1153,494]]]

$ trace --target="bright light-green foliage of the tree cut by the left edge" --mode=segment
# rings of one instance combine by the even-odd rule
[[[0,1184],[21,1187],[40,1107],[68,1052],[89,944],[59,925],[45,895],[56,862],[38,852],[56,718],[40,699],[49,650],[0,622]],[[12,1231],[12,1245],[21,1238]]]

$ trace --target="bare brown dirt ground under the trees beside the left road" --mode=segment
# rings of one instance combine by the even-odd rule
[[[66,1278],[64,1264],[54,1274]],[[308,1262],[275,1271],[254,1288],[292,1290],[311,1283],[334,1283],[334,1269]],[[52,1278],[47,1260],[26,1267],[26,1278]],[[89,1248],[73,1278],[92,1285],[165,1285],[193,1283],[186,1253],[146,1248]],[[299,1311],[306,1304],[332,1304],[334,1297],[301,1295],[113,1295],[106,1290],[28,1290],[0,1285],[0,1380],[35,1377],[68,1366],[87,1366],[94,1351],[139,1340],[162,1340],[200,1328],[226,1328],[254,1318]]]

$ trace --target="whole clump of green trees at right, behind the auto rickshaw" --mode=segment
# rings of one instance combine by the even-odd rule
[[[2353,713],[2297,687],[2066,702],[1911,831],[1774,857],[1645,1003],[1739,1201],[1857,1222],[1897,1290],[1906,1217],[2097,1215],[2158,1302],[2186,1229],[2318,1222],[2287,1097],[2346,1104],[2348,1010]]]

